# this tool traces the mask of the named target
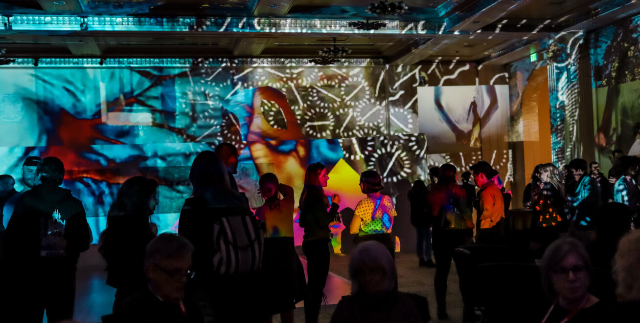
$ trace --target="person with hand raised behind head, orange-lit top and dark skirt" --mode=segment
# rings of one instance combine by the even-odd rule
[[[255,215],[264,221],[266,237],[262,255],[262,283],[269,297],[262,301],[272,315],[280,314],[280,322],[293,322],[296,303],[305,297],[305,272],[296,253],[293,237],[294,193],[289,185],[278,182],[273,173],[266,173],[258,181],[265,203]],[[282,197],[280,197],[282,196]]]

